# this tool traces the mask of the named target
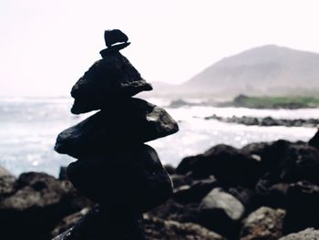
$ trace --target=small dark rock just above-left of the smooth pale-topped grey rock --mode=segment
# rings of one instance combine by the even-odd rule
[[[173,198],[179,203],[199,203],[216,186],[218,182],[213,176],[209,179],[193,181],[190,185],[175,188]]]

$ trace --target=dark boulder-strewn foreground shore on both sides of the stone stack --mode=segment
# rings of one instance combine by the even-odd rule
[[[309,142],[221,144],[166,169],[174,193],[144,214],[146,239],[319,238],[319,131]],[[2,239],[48,240],[98,214],[65,171],[56,179],[0,169]]]

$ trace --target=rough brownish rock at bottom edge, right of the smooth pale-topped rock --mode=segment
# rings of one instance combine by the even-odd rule
[[[283,209],[259,208],[243,221],[241,240],[277,240],[283,236],[284,215]]]

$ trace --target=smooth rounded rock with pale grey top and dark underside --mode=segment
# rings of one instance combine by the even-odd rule
[[[229,193],[215,188],[199,206],[199,223],[221,235],[233,238],[239,234],[245,212],[242,203]]]

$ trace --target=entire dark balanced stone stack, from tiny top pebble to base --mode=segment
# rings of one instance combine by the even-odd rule
[[[118,29],[106,31],[102,59],[71,90],[72,113],[99,111],[62,131],[55,150],[77,158],[67,176],[98,206],[55,239],[144,239],[142,214],[172,194],[168,172],[144,142],[178,131],[178,124],[160,107],[132,98],[152,87],[119,53],[128,40]]]

